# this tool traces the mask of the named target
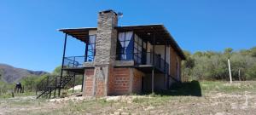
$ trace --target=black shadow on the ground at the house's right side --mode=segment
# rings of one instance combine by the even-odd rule
[[[157,90],[156,95],[174,95],[174,96],[201,96],[201,86],[198,81],[187,83],[173,83],[171,89]]]

